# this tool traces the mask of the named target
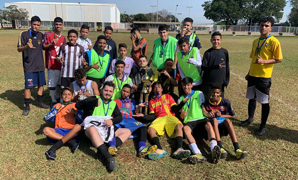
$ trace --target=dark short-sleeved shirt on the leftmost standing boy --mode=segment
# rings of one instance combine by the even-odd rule
[[[43,34],[39,31],[37,33],[30,32],[30,30],[23,31],[19,35],[17,47],[27,45],[29,40],[31,40],[35,49],[28,48],[22,52],[24,72],[44,71],[45,63],[42,53]]]

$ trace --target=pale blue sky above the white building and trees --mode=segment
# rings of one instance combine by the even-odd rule
[[[61,2],[61,0],[0,0],[0,9],[4,9],[5,2],[17,2],[17,1],[44,1],[44,2]],[[63,2],[84,2],[84,3],[116,3],[120,13],[126,14],[137,14],[137,13],[149,13],[152,12],[152,7],[150,5],[156,5],[157,0],[62,0]],[[179,15],[179,21],[183,18],[188,17],[189,8],[186,6],[193,6],[190,9],[190,17],[194,19],[194,24],[204,24],[213,23],[211,20],[207,20],[204,17],[204,10],[202,4],[205,0],[187,0],[187,4],[183,4],[181,0],[158,0],[158,10],[166,9],[167,11],[175,14],[176,4],[177,13],[182,13]],[[132,7],[133,6],[133,7]],[[138,8],[140,7],[140,8]],[[141,8],[142,7],[142,8]],[[290,13],[291,7],[287,3],[284,9],[284,16],[280,22],[285,22],[287,20],[287,15]],[[156,13],[156,7],[154,8]],[[177,15],[178,16],[178,15]]]

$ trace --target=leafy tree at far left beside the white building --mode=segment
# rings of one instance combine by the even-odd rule
[[[7,21],[11,21],[12,29],[15,29],[15,20],[28,19],[29,12],[24,8],[17,8],[16,5],[9,5],[5,8],[3,15],[7,17]]]

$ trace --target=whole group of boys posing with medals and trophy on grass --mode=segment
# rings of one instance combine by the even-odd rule
[[[61,35],[63,20],[60,17],[54,19],[53,31],[42,35],[38,31],[40,19],[33,16],[31,28],[20,34],[18,43],[18,51],[23,52],[25,73],[23,115],[29,114],[30,90],[35,86],[38,86],[39,107],[50,108],[42,102],[44,49],[52,97],[52,109],[45,119],[55,121],[55,128],[43,130],[53,143],[45,153],[47,159],[56,159],[56,150],[65,143],[71,144],[74,153],[81,132],[91,139],[99,158],[106,162],[110,171],[117,169],[113,158],[119,153],[117,147],[128,138],[139,139],[138,157],[148,156],[152,160],[166,157],[168,153],[162,149],[157,136],[165,132],[175,138],[173,158],[187,158],[192,164],[206,161],[195,137],[209,140],[214,163],[227,156],[222,135],[231,137],[238,160],[246,157],[247,152],[239,149],[229,120],[235,113],[230,102],[224,99],[224,87],[229,83],[229,58],[227,50],[221,47],[222,35],[212,34],[212,48],[201,59],[202,46],[199,38],[191,33],[192,23],[191,18],[185,18],[183,30],[176,38],[168,35],[167,26],[159,26],[160,38],[154,40],[148,62],[148,42],[138,28],[131,30],[131,57],[126,56],[127,45],[123,43],[119,44],[118,57],[116,44],[111,39],[111,27],[105,28],[104,36],[98,36],[92,47],[87,38],[88,26],[82,25],[80,37],[75,30],[70,30],[66,43]],[[261,38],[253,43],[252,63],[246,78],[249,118],[240,125],[253,122],[257,100],[262,104],[262,123],[257,135],[266,131],[272,64],[282,61],[280,44],[269,34],[273,24],[271,17],[260,20]],[[149,68],[151,63],[157,69],[155,72]],[[265,66],[266,63],[269,65]],[[149,103],[140,100],[145,74],[150,77],[147,84]],[[178,87],[179,96],[174,93],[174,87]],[[149,111],[145,112],[148,107]],[[140,121],[151,123],[147,128]],[[151,146],[146,144],[147,136]],[[191,151],[182,148],[183,136]]]

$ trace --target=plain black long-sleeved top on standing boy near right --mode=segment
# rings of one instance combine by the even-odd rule
[[[220,63],[224,62],[223,68]],[[205,51],[202,59],[203,84],[220,83],[227,86],[229,83],[229,59],[228,52],[224,48],[210,48]]]

